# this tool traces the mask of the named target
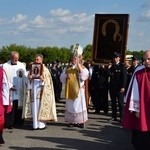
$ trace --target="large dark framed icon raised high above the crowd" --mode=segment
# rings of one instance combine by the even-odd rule
[[[110,63],[114,52],[121,53],[125,61],[128,22],[128,14],[95,14],[93,62]]]

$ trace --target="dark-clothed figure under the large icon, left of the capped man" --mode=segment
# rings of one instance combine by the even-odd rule
[[[108,113],[108,70],[99,65],[95,67],[91,77],[91,87],[94,96],[95,113],[99,114],[103,110]]]

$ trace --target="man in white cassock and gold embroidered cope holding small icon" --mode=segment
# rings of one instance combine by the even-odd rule
[[[35,63],[42,64],[42,62],[43,56],[37,54],[35,56]],[[44,64],[42,64],[42,70],[39,78],[34,78],[29,73],[30,81],[28,82],[28,89],[30,90],[30,94],[27,92],[24,117],[26,119],[30,118],[29,111],[32,111],[33,130],[45,129],[46,122],[57,121],[52,78]],[[31,109],[28,104],[29,100],[31,101]]]

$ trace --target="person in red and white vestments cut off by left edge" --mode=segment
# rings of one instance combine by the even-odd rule
[[[9,84],[6,74],[0,67],[0,144],[4,144],[3,129],[4,129],[4,112],[10,112],[11,106],[9,101]]]

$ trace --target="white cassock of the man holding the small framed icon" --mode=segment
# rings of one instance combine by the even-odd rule
[[[33,129],[42,129],[46,127],[46,122],[38,121],[38,112],[40,108],[40,97],[44,82],[40,79],[33,79],[30,83],[31,99],[32,99],[32,117],[33,117]]]

